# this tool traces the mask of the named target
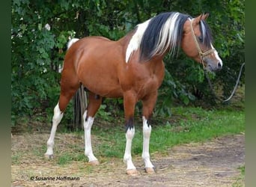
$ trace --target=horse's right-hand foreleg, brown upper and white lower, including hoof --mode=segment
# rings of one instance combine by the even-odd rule
[[[143,103],[143,151],[142,151],[142,159],[144,160],[145,171],[149,174],[154,173],[154,166],[150,161],[150,153],[149,153],[149,144],[150,144],[150,134],[151,134],[151,126],[148,123],[150,116],[152,115],[153,108],[156,104],[157,91],[155,93],[150,94],[142,100]]]

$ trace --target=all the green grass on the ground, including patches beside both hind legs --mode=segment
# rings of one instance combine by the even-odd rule
[[[244,111],[237,110],[205,110],[195,107],[176,107],[172,109],[172,116],[158,120],[153,118],[150,137],[150,153],[167,153],[168,149],[178,144],[189,142],[204,142],[222,135],[234,135],[245,131]],[[118,124],[112,124],[96,118],[91,133],[94,154],[103,159],[124,156],[126,138],[124,120],[118,119]],[[121,124],[120,124],[121,123]],[[58,132],[60,133],[60,132]],[[83,131],[70,132],[76,135],[76,144],[67,144],[69,140],[56,147],[58,165],[67,165],[73,161],[88,161],[84,155]],[[58,136],[58,134],[57,134]],[[135,119],[135,136],[132,140],[132,155],[142,153],[142,121],[141,117]],[[41,156],[46,150],[46,144],[33,148],[35,156]],[[22,153],[12,156],[13,163],[19,163]]]

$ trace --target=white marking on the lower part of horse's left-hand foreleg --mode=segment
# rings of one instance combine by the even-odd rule
[[[136,169],[132,163],[132,155],[131,155],[132,138],[134,134],[135,134],[134,126],[131,129],[129,128],[127,129],[127,133],[126,133],[127,145],[125,147],[125,153],[124,153],[124,162],[127,162],[127,170]]]

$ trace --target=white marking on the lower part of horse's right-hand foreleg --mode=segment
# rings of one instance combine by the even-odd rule
[[[146,118],[143,116],[143,152],[142,159],[144,160],[145,168],[153,168],[154,166],[150,162],[149,154],[149,143],[150,143],[150,134],[151,126],[148,125]]]

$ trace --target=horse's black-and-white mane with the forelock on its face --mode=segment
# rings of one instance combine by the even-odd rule
[[[127,46],[126,62],[138,48],[140,61],[148,61],[154,55],[161,55],[168,48],[171,55],[177,54],[183,37],[183,25],[188,18],[192,19],[192,16],[177,12],[160,13],[137,25]],[[209,26],[201,21],[200,29],[204,45],[210,46],[212,37]]]

